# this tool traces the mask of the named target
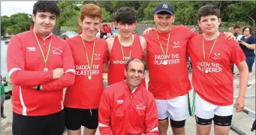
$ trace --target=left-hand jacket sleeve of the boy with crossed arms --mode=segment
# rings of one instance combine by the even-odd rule
[[[53,80],[53,71],[24,71],[25,59],[23,43],[15,35],[7,50],[8,75],[15,85],[33,87]]]

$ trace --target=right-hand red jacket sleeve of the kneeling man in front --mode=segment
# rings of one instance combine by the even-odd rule
[[[155,98],[153,95],[149,95],[149,101],[147,103],[146,115],[145,115],[146,135],[158,135],[158,110],[155,104]]]

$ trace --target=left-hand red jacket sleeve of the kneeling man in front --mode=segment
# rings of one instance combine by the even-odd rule
[[[106,90],[101,95],[101,101],[98,107],[98,127],[101,135],[113,135],[110,127],[110,97],[107,95]]]

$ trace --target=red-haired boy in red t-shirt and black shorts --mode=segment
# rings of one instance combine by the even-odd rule
[[[65,125],[68,135],[93,135],[98,127],[98,105],[103,92],[102,72],[107,63],[107,42],[95,37],[101,26],[102,10],[83,5],[79,25],[83,33],[67,40],[76,71],[75,83],[65,93]]]

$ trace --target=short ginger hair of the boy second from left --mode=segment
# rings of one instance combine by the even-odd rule
[[[101,7],[98,7],[94,4],[83,5],[80,9],[80,19],[83,21],[85,17],[95,18],[99,17],[101,19],[102,10]]]

